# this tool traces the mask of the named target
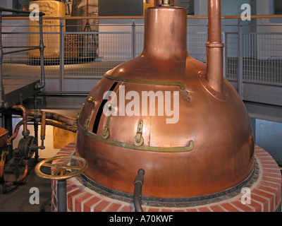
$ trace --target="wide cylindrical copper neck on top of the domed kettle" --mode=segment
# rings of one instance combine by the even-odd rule
[[[146,11],[142,55],[155,59],[186,59],[187,11],[159,7]]]

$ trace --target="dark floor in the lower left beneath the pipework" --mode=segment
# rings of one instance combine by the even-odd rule
[[[38,162],[41,160],[39,159]],[[27,177],[24,184],[11,187],[4,193],[1,186],[0,192],[0,212],[51,212],[51,181],[42,179],[35,174],[37,162],[32,159],[28,168]],[[44,167],[47,168],[47,167]],[[49,167],[48,167],[49,168]],[[43,170],[48,170],[43,169]],[[24,165],[19,165],[20,175],[23,173]],[[44,172],[48,174],[48,172]],[[16,167],[13,160],[5,165],[4,179],[5,182],[12,182],[16,179]],[[32,189],[37,188],[37,189]],[[39,191],[39,203],[34,203],[35,190]],[[31,201],[31,202],[30,202]],[[34,204],[32,204],[34,203]]]

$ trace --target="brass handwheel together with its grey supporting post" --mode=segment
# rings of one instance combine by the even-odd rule
[[[54,160],[64,160],[63,163],[49,163]],[[71,160],[76,160],[82,162],[81,167],[68,165]],[[51,174],[44,174],[40,169],[41,167],[54,167],[54,171]],[[78,157],[75,155],[58,155],[55,157],[48,158],[46,160],[42,160],[35,167],[35,173],[38,177],[42,177],[44,179],[55,179],[58,180],[57,184],[57,197],[58,197],[58,211],[66,212],[67,211],[67,191],[66,191],[66,179],[71,177],[76,177],[82,172],[85,171],[88,167],[88,162],[82,157]],[[71,169],[72,172],[68,172],[67,169]]]

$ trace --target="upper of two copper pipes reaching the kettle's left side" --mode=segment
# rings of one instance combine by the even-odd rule
[[[27,116],[42,118],[42,110],[40,109],[27,109]],[[67,117],[62,114],[57,114],[54,112],[45,112],[46,119],[54,119],[55,121],[62,122],[63,124],[67,124],[68,126],[73,126],[75,124],[75,118]]]

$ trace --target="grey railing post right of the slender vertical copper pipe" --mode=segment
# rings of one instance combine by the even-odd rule
[[[241,19],[238,19],[238,93],[243,99],[243,35]]]

